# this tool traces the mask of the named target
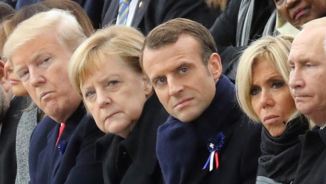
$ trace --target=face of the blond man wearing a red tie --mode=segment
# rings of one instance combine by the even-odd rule
[[[33,101],[58,123],[66,121],[81,103],[68,78],[70,57],[54,33],[44,33],[19,47],[11,59]]]

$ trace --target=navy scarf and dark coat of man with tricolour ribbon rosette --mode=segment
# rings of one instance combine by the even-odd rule
[[[202,169],[209,139],[225,135],[219,168]],[[239,109],[234,85],[226,76],[216,84],[210,106],[199,118],[183,123],[170,116],[158,128],[157,158],[166,183],[254,183],[260,156],[260,124],[251,124]]]

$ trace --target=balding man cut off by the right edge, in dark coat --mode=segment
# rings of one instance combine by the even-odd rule
[[[326,18],[305,24],[293,40],[289,86],[299,112],[316,126],[300,137],[303,149],[294,182],[326,182]]]

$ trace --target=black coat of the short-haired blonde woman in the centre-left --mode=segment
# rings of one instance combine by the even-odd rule
[[[103,161],[105,183],[162,183],[155,146],[159,125],[168,113],[152,95],[145,103],[136,126],[126,139],[107,134],[98,140],[96,157]]]

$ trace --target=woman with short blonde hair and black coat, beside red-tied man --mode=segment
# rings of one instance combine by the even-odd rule
[[[99,129],[111,133],[96,150],[105,183],[162,182],[156,131],[168,114],[140,67],[143,41],[134,28],[110,26],[91,35],[70,60],[73,87]]]

